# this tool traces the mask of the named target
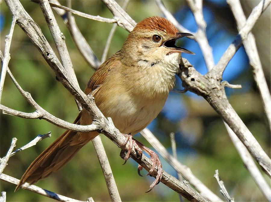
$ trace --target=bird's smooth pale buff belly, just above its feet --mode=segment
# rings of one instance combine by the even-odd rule
[[[106,101],[97,106],[105,117],[112,118],[114,125],[124,134],[134,135],[144,129],[157,117],[167,99],[167,95],[149,99],[128,92],[114,93],[115,90],[109,90],[107,98],[102,95]]]

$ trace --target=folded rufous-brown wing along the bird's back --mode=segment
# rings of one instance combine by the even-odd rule
[[[114,55],[112,55],[109,59],[104,61],[103,64],[98,68],[98,70],[93,74],[93,76],[90,78],[88,85],[86,86],[85,93],[86,95],[89,95],[92,91],[97,89],[102,83],[104,82],[104,79],[109,71],[112,70],[114,67],[113,64],[116,63],[116,61],[119,60],[120,53],[117,52]]]

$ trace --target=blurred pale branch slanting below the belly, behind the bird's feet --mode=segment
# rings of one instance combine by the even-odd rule
[[[143,129],[140,134],[162,155],[162,157],[182,176],[189,181],[204,197],[210,201],[222,201],[212,191],[210,191],[196,176],[193,175],[190,168],[182,165],[176,158],[167,152],[167,149],[147,128]]]

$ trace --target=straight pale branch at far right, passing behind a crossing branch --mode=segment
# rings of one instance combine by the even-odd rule
[[[246,17],[238,0],[227,0],[232,13],[235,17],[238,30],[245,25]],[[255,43],[255,38],[252,33],[248,34],[248,40],[243,41],[246,53],[248,55],[249,64],[251,65],[254,73],[254,79],[257,87],[260,91],[260,95],[263,101],[264,110],[268,119],[269,129],[271,131],[271,96],[266,84],[266,79],[263,73],[262,64],[260,61],[259,53]]]

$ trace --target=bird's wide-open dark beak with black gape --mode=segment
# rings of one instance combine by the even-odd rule
[[[170,48],[172,49],[172,51],[170,51],[168,54],[170,53],[174,53],[174,52],[180,52],[180,53],[188,53],[188,54],[193,54],[195,55],[195,53],[191,52],[191,51],[188,51],[187,49],[185,48],[182,48],[182,47],[178,47],[175,45],[177,39],[180,39],[184,36],[194,36],[193,34],[189,34],[189,33],[176,33],[177,36],[176,37],[173,37],[167,41],[165,41],[162,45],[166,48]]]

